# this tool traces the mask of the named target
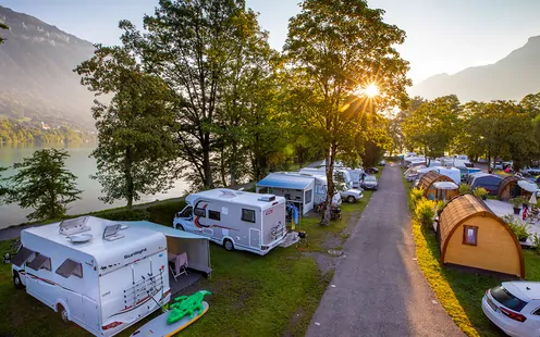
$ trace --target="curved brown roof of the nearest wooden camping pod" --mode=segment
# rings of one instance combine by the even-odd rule
[[[525,263],[521,251],[521,245],[517,240],[510,226],[499,216],[493,213],[490,208],[477,197],[466,194],[459,195],[446,203],[441,212],[438,225],[438,232],[440,235],[440,248],[441,248],[441,261],[444,261],[446,254],[446,248],[450,239],[454,232],[464,222],[468,221],[474,216],[491,217],[499,222],[503,226],[508,235],[514,239],[514,244],[518,248],[519,263],[520,263],[520,276],[525,277]]]

